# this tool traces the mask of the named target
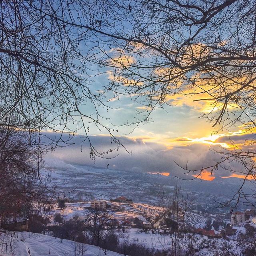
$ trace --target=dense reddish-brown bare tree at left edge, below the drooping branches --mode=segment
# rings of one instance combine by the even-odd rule
[[[1,222],[46,210],[48,178],[39,174],[38,154],[27,144],[27,134],[11,127],[0,128]]]

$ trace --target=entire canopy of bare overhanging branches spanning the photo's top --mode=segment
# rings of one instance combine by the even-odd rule
[[[139,102],[141,112],[128,122],[134,128],[157,106],[186,96],[204,106],[202,116],[216,132],[242,128],[254,134],[255,9],[250,0],[2,1],[0,120],[14,115],[14,125],[39,132],[37,143],[42,129],[68,132],[70,138],[84,132],[91,156],[108,158],[120,141],[100,106],[108,111],[109,100],[120,95]],[[99,73],[111,80],[93,87],[91,75],[102,67]],[[94,148],[90,128],[105,129],[115,147]],[[48,138],[49,150],[72,143]],[[224,168],[247,180],[255,176],[255,142],[253,135],[239,147],[230,142],[214,166],[183,167],[198,173],[237,161],[240,170]],[[240,196],[255,194],[241,188],[235,200]]]

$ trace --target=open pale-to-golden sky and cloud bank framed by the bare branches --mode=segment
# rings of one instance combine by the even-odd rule
[[[97,82],[101,82],[100,78]],[[66,148],[57,148],[53,153],[48,153],[47,157],[58,157],[72,164],[86,164],[101,168],[137,171],[137,172],[158,172],[164,175],[178,176],[180,178],[197,177],[199,172],[186,171],[179,166],[186,166],[192,170],[202,169],[214,165],[220,161],[220,155],[214,154],[212,150],[229,150],[230,138],[236,145],[242,145],[244,139],[252,138],[250,134],[244,133],[242,128],[228,131],[223,130],[216,134],[212,124],[206,119],[200,118],[210,108],[208,102],[201,104],[193,102],[192,98],[179,96],[171,99],[175,106],[166,106],[164,109],[156,108],[150,116],[150,122],[139,125],[132,131],[131,126],[118,126],[125,124],[127,120],[133,120],[137,110],[142,105],[131,101],[126,96],[121,96],[119,100],[110,102],[110,106],[115,109],[101,109],[106,126],[116,127],[113,132],[120,139],[124,148],[115,150],[115,145],[110,144],[110,137],[105,130],[101,132],[90,127],[88,135],[93,145],[102,151],[113,149],[112,154],[107,157],[114,157],[108,162],[106,159],[96,158],[95,162],[89,157],[88,144],[82,143],[83,134],[76,134],[73,138],[74,145]],[[89,111],[89,110],[87,110]],[[114,126],[117,125],[117,126]],[[89,124],[89,126],[91,126]],[[66,135],[67,136],[67,135]],[[227,167],[227,166],[225,166]],[[214,180],[216,176],[244,178],[244,170],[237,162],[228,163],[237,172],[230,172],[225,168],[218,168],[213,173],[209,169],[198,176],[204,180]],[[250,177],[248,177],[250,178]]]

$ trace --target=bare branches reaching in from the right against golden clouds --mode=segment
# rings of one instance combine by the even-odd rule
[[[255,187],[255,2],[136,0],[124,1],[119,9],[129,13],[125,21],[116,21],[115,29],[94,30],[106,36],[92,48],[94,62],[113,68],[106,91],[142,104],[134,124],[149,120],[157,106],[173,106],[186,97],[212,122],[214,132],[246,135],[239,145],[231,136],[228,148],[216,150],[222,157],[216,164],[182,168],[198,176],[206,168],[224,168],[245,182],[250,178]],[[224,206],[236,207],[241,198],[255,206],[255,189],[249,193],[243,187]]]

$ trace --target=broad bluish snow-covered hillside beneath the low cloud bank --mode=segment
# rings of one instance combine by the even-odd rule
[[[134,202],[157,204],[159,201],[157,195],[163,187],[166,193],[172,193],[178,180],[178,183],[182,185],[182,190],[193,190],[196,193],[195,204],[200,203],[204,209],[214,206],[213,201],[206,200],[206,194],[202,190],[204,183],[208,182],[204,180],[195,180],[192,186],[190,184],[192,181],[182,181],[171,176],[74,165],[55,158],[45,159],[42,174],[50,174],[52,185],[56,185],[60,191],[70,192],[69,198],[80,201],[90,201],[94,198],[109,200],[125,196]],[[221,193],[221,189],[215,190]],[[207,193],[209,192],[210,190],[207,189]],[[220,196],[219,193],[218,199],[225,201],[226,196]]]

